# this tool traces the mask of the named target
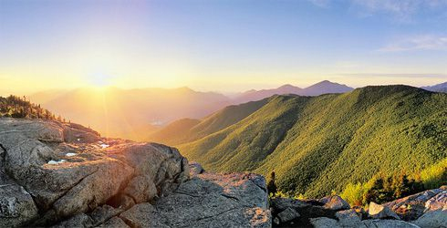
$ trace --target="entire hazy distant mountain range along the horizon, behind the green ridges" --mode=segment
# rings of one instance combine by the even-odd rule
[[[446,91],[446,85],[447,83],[443,83],[424,89]],[[105,136],[129,140],[161,140],[176,144],[184,140],[163,137],[163,134],[169,134],[163,133],[166,131],[163,128],[170,123],[187,126],[192,123],[188,120],[177,122],[178,119],[207,119],[227,106],[258,101],[274,95],[318,96],[344,93],[352,89],[324,80],[307,88],[284,85],[272,89],[252,89],[231,98],[220,93],[200,92],[191,88],[53,89],[37,92],[28,98],[66,119],[91,126]]]

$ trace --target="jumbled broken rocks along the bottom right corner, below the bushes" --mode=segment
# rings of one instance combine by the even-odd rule
[[[420,192],[394,202],[369,203],[365,212],[339,196],[317,200],[275,198],[276,227],[447,227],[445,188]],[[296,213],[295,213],[296,212]]]

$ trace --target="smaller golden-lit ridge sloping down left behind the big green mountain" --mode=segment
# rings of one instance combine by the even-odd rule
[[[261,109],[268,100],[269,98],[265,98],[241,105],[228,106],[202,120],[179,119],[173,121],[165,128],[155,131],[147,140],[158,141],[168,145],[178,145],[198,140],[245,119],[257,109]]]

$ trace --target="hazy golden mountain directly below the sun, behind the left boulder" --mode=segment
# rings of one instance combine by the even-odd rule
[[[44,97],[42,107],[91,126],[108,137],[142,140],[159,126],[181,118],[203,118],[229,105],[228,98],[191,88],[78,88]]]

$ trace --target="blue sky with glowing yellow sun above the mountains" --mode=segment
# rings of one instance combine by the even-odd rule
[[[0,95],[447,81],[447,0],[0,0]]]

